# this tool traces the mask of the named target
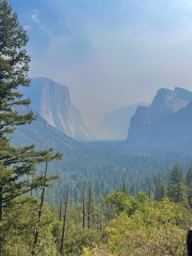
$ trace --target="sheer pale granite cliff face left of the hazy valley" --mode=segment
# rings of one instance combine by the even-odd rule
[[[45,77],[36,77],[31,87],[22,88],[31,107],[53,127],[77,140],[93,139],[77,108],[70,101],[69,88]]]

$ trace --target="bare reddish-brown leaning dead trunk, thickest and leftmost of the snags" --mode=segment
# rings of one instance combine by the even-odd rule
[[[35,238],[34,238],[33,251],[32,251],[32,255],[33,256],[37,255],[35,247],[37,247],[37,244],[38,244],[38,236],[39,236],[38,226],[39,226],[39,223],[40,223],[40,220],[41,220],[42,206],[44,205],[46,179],[47,179],[47,162],[46,162],[46,170],[45,170],[45,176],[44,176],[44,184],[43,184],[43,187],[42,187],[42,196],[41,196],[41,200],[40,200],[40,207],[37,208],[37,211],[38,211],[38,221],[37,221],[37,228],[35,228]]]

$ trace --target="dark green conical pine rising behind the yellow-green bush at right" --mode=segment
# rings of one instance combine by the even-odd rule
[[[187,204],[186,186],[178,165],[175,165],[172,172],[170,172],[168,196],[176,203]]]

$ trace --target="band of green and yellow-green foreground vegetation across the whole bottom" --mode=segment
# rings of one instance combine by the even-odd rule
[[[58,205],[44,204],[37,255],[185,255],[192,225],[188,206],[167,197],[149,202],[145,193],[132,197],[123,187],[97,205],[93,188],[84,192],[84,216],[83,204],[64,200],[61,212]],[[33,196],[21,197],[4,212],[2,255],[31,254],[38,204]]]

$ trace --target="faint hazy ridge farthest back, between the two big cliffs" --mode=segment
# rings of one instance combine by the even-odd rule
[[[148,106],[149,103],[140,102],[124,106],[110,113],[94,127],[94,134],[98,139],[103,140],[125,140],[127,130],[130,126],[131,117],[139,105]]]

